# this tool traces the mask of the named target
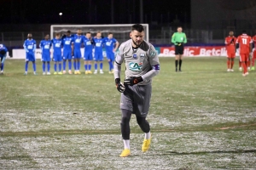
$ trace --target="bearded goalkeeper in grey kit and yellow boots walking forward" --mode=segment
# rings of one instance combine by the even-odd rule
[[[160,71],[160,63],[154,46],[143,40],[144,28],[140,24],[131,27],[131,39],[119,47],[115,59],[113,74],[117,90],[121,94],[120,109],[122,112],[121,133],[124,142],[121,157],[130,156],[130,119],[135,114],[137,124],[145,133],[143,152],[151,142],[148,115],[152,78]],[[125,61],[125,86],[120,82],[121,65]]]

